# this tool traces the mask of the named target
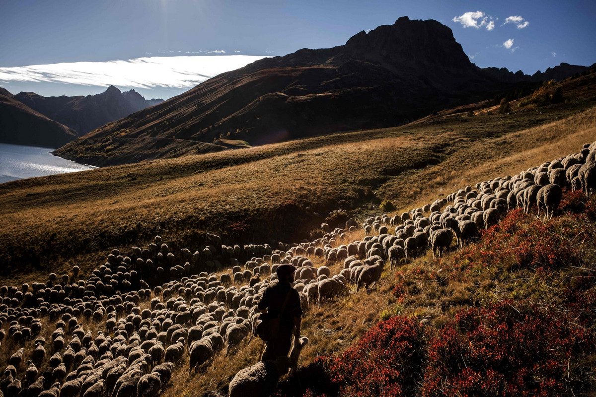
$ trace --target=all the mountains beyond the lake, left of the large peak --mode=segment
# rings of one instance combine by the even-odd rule
[[[163,102],[114,86],[87,96],[16,95],[0,88],[0,142],[58,148],[77,136]]]

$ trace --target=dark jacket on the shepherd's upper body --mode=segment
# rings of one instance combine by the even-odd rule
[[[288,296],[289,293],[289,296]],[[284,311],[281,308],[287,296],[287,304],[285,304]],[[272,317],[277,317],[281,312],[280,324],[285,327],[293,327],[293,317],[302,317],[302,308],[300,308],[300,295],[298,291],[293,289],[290,283],[271,283],[263,292],[259,304],[259,310],[267,309],[267,312]]]

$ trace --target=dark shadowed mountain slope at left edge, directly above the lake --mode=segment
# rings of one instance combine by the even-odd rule
[[[74,130],[39,114],[0,88],[0,142],[58,148],[76,137]]]

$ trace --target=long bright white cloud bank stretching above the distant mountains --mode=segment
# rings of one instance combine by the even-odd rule
[[[134,88],[193,87],[225,71],[260,60],[253,55],[148,57],[107,62],[68,62],[0,67],[0,80]]]

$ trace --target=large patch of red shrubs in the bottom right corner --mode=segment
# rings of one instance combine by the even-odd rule
[[[572,319],[573,320],[573,319]],[[429,344],[424,396],[556,396],[591,332],[529,304],[460,311]]]

